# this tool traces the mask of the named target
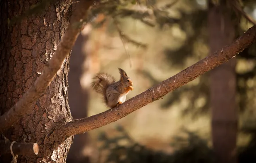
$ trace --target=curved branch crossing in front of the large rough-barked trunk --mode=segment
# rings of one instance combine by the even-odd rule
[[[17,122],[27,111],[32,109],[38,98],[46,91],[46,88],[52,82],[57,71],[61,68],[65,57],[70,53],[81,31],[83,25],[81,22],[86,18],[87,10],[93,2],[94,0],[81,0],[81,4],[74,12],[70,20],[70,25],[61,39],[60,45],[48,65],[43,69],[42,75],[37,78],[21,99],[12,106],[8,112],[0,117],[0,133],[3,133],[4,130],[11,127],[12,124]]]

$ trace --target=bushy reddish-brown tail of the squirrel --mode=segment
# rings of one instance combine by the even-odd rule
[[[107,87],[115,82],[115,78],[107,73],[98,73],[94,76],[93,82],[91,82],[91,87],[98,94],[102,94],[104,98],[106,98],[106,90]],[[107,99],[104,99],[107,101]]]

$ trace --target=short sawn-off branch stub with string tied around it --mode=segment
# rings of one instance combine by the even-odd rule
[[[10,149],[10,145],[12,142],[8,141],[4,141],[1,140],[0,141],[0,155],[2,154],[10,154],[11,153],[11,149]],[[27,154],[35,154],[37,155],[39,152],[39,146],[37,143],[26,143],[26,142],[15,142],[12,146],[12,151],[13,154],[22,154],[22,155],[27,155]]]

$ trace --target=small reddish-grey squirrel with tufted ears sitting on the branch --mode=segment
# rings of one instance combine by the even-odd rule
[[[116,82],[115,78],[107,73],[98,73],[91,83],[92,89],[103,96],[104,103],[110,108],[124,103],[126,95],[134,89],[131,78],[123,69],[118,69],[119,81]]]

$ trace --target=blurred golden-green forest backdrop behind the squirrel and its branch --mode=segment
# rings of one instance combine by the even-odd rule
[[[158,8],[170,2],[152,0]],[[256,19],[256,1],[243,3],[244,11]],[[131,7],[144,9],[138,3]],[[132,16],[116,23],[104,14],[85,26],[70,57],[68,96],[73,118],[107,109],[90,88],[98,72],[119,79],[117,68],[124,69],[134,83],[134,91],[127,96],[130,99],[209,55],[207,0],[178,0],[161,14],[164,16],[155,18],[155,26]],[[242,16],[236,22],[236,37],[252,27]],[[122,39],[120,33],[141,45]],[[247,162],[256,159],[256,44],[236,61],[237,154],[239,162]],[[209,80],[207,72],[119,121],[75,136],[67,162],[211,162]]]

